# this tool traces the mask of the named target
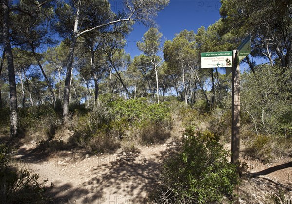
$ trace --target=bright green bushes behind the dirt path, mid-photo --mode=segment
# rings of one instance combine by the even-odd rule
[[[171,126],[169,103],[150,104],[143,98],[101,101],[93,111],[73,117],[72,139],[92,152],[110,152],[125,139],[144,144],[164,141]]]

